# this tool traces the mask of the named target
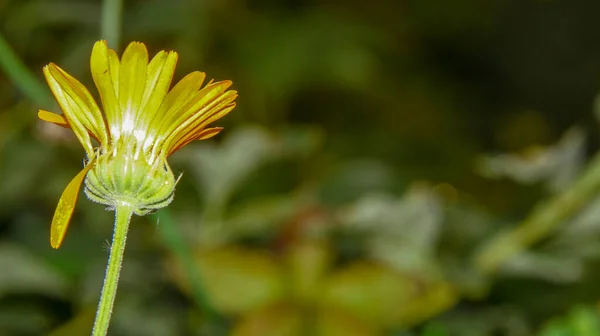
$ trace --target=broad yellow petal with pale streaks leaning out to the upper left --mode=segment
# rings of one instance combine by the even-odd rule
[[[67,122],[91,157],[93,146],[88,132],[102,146],[108,144],[106,125],[94,98],[83,84],[53,63],[44,67],[44,75]]]

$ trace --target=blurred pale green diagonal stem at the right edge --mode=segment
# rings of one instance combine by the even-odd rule
[[[496,235],[475,256],[475,266],[494,273],[512,257],[552,233],[561,223],[577,214],[600,192],[600,154],[573,185],[541,203],[514,229]]]

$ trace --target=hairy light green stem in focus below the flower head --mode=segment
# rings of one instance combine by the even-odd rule
[[[93,336],[105,336],[108,331],[132,213],[133,209],[129,205],[118,205],[115,210],[115,230],[104,276],[104,285],[100,294],[100,303],[96,312],[96,321],[94,321]]]

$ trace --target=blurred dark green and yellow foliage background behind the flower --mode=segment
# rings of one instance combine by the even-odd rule
[[[81,197],[50,248],[83,150],[36,111],[59,112],[49,62],[93,88],[102,6],[0,1],[2,336],[91,328],[113,214]],[[599,12],[125,1],[121,50],[174,49],[176,79],[240,97],[172,157],[172,205],[134,218],[110,334],[600,335]]]

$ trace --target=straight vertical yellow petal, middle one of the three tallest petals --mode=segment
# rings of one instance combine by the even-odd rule
[[[121,107],[121,118],[118,125],[123,134],[132,134],[135,130],[137,116],[142,113],[142,97],[146,87],[146,72],[148,70],[148,50],[139,42],[127,46],[121,57],[119,72],[118,99]]]

